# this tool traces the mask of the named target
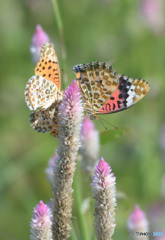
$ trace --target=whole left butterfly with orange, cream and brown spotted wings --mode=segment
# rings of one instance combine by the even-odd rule
[[[63,98],[60,91],[60,69],[52,45],[46,42],[35,67],[35,75],[26,84],[25,102],[30,110],[31,126],[38,132],[51,132],[58,137],[58,106]]]

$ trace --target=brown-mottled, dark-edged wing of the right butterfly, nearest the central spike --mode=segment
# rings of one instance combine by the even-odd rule
[[[112,66],[102,62],[77,65],[73,70],[84,99],[85,111],[94,115],[119,84],[117,74]]]

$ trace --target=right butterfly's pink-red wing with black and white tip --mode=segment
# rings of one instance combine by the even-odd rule
[[[119,85],[104,104],[97,111],[98,114],[108,114],[122,111],[141,100],[149,91],[149,84],[143,79],[132,79],[124,75],[118,75]]]

